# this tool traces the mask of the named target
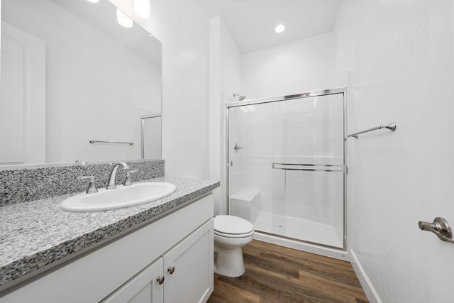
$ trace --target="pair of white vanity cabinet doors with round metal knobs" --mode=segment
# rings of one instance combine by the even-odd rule
[[[206,302],[213,290],[212,252],[211,219],[102,302]]]

